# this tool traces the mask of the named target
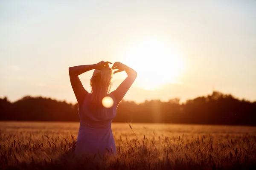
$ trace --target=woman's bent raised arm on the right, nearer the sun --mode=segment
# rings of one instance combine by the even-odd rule
[[[137,77],[137,72],[134,71],[134,69],[128,67],[127,65],[122,64],[121,62],[115,62],[113,64],[112,69],[118,69],[117,71],[114,71],[113,74],[121,72],[121,71],[125,71],[127,76],[126,79],[118,86],[118,88],[116,88],[115,91],[112,91],[111,94],[113,94],[113,96],[116,99],[116,103],[117,105],[119,104],[119,102],[123,99],[123,97],[125,96],[125,94],[127,93],[127,91],[129,90],[129,88],[131,87],[131,85],[134,83],[134,80]]]

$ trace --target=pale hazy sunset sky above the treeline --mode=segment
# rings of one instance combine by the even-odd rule
[[[75,103],[68,68],[102,60],[137,71],[127,100],[256,101],[256,0],[0,1],[0,97]]]

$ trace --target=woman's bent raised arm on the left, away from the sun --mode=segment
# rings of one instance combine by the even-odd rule
[[[100,70],[103,66],[108,65],[108,63],[112,64],[111,62],[101,61],[97,64],[78,65],[78,66],[69,68],[70,83],[73,88],[74,94],[76,96],[78,105],[81,105],[83,103],[85,96],[88,94],[88,92],[84,89],[84,87],[79,79],[79,75],[83,74],[84,72],[93,70],[93,69]]]

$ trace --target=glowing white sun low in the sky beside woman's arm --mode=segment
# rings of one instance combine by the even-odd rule
[[[155,90],[165,83],[174,83],[183,71],[183,59],[167,42],[146,39],[122,51],[124,64],[137,71],[137,86]]]

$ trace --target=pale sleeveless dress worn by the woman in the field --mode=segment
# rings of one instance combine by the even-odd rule
[[[79,133],[76,141],[76,155],[116,155],[116,144],[113,138],[111,123],[116,116],[116,100],[113,99],[111,108],[99,108],[96,111],[89,110],[91,94],[88,93],[83,105],[79,108]]]

